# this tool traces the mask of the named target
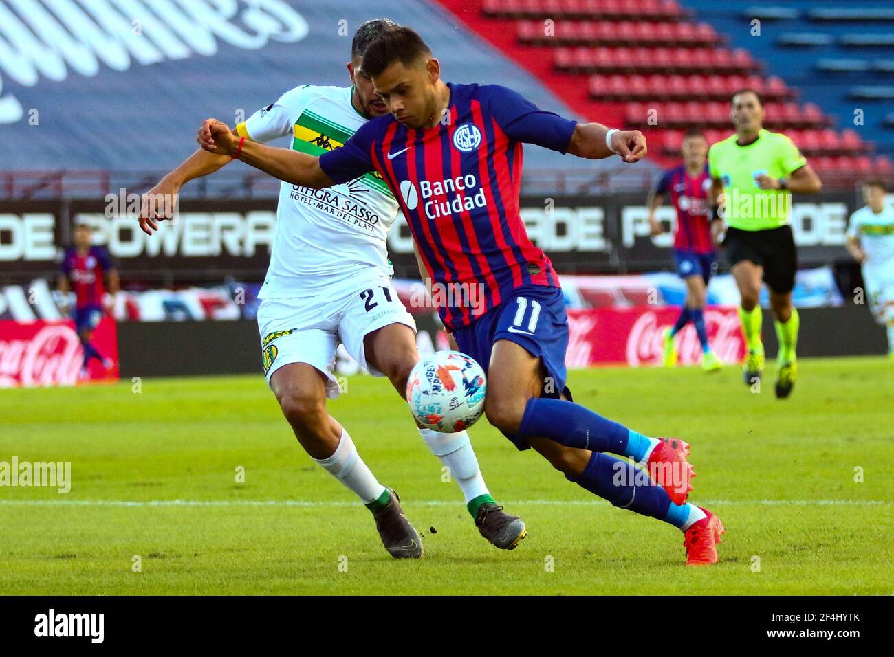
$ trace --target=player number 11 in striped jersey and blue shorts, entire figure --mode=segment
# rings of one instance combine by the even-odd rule
[[[447,290],[483,291],[484,307],[442,299],[438,311],[460,351],[488,373],[490,423],[586,491],[678,527],[687,565],[716,562],[723,526],[686,501],[688,445],[649,438],[570,400],[564,295],[519,214],[523,142],[632,163],[645,156],[643,135],[569,121],[499,85],[445,84],[425,41],[406,27],[370,44],[362,69],[391,115],[368,122],[343,147],[314,157],[242,145],[214,119],[198,142],[297,185],[327,188],[380,173],[401,201],[428,278]]]

